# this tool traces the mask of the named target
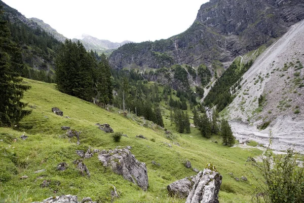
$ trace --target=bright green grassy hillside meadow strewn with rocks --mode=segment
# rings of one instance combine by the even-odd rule
[[[109,108],[106,111],[57,91],[54,84],[28,79],[25,82],[32,86],[24,97],[24,101],[32,108],[31,115],[17,126],[22,131],[0,128],[0,140],[3,140],[0,144],[0,199],[28,202],[54,195],[73,194],[80,198],[91,196],[98,202],[111,202],[112,184],[120,194],[115,202],[184,202],[185,199],[170,197],[166,186],[186,176],[195,175],[192,169],[184,167],[182,163],[188,159],[199,170],[211,162],[222,174],[220,202],[250,201],[251,183],[255,184],[250,171],[255,171],[250,164],[246,164],[246,160],[248,156],[259,154],[259,150],[224,147],[214,142],[221,143],[219,138],[202,138],[196,128],[192,129],[191,134],[177,134],[173,126],[170,126],[169,119],[165,119],[165,127],[173,132],[173,140],[170,140],[166,138],[163,129],[147,121],[148,127],[143,127],[143,120],[133,115],[126,118],[118,113],[118,109]],[[63,117],[54,114],[52,107],[61,109]],[[108,123],[115,132],[122,131],[128,138],[122,137],[120,143],[114,143],[110,134],[99,130],[96,123]],[[76,144],[75,138],[68,140],[65,131],[60,129],[61,126],[82,131],[81,145]],[[28,136],[27,140],[19,138],[23,133]],[[148,140],[135,138],[138,134]],[[155,138],[155,142],[151,141],[152,138]],[[179,146],[174,143],[179,143]],[[87,150],[89,147],[114,149],[118,145],[132,146],[131,152],[135,157],[146,163],[149,179],[146,192],[103,167],[97,154],[84,160],[90,170],[90,178],[82,177],[72,163],[80,158],[75,150]],[[151,164],[153,160],[161,165]],[[60,162],[68,164],[66,171],[56,170]],[[42,169],[46,171],[34,173]],[[231,172],[235,177],[246,176],[248,181],[236,181],[228,174]],[[24,175],[28,178],[20,179]],[[43,187],[44,180],[50,182],[50,185]]]

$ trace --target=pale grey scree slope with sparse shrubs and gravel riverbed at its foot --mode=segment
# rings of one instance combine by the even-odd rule
[[[304,149],[303,50],[301,21],[265,50],[244,74],[241,90],[226,108],[231,120],[242,121],[232,122],[236,136],[267,143],[272,131],[276,149],[291,145]],[[261,131],[256,132],[256,127]]]

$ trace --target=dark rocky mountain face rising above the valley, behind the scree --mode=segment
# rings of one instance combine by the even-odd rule
[[[219,60],[227,66],[236,56],[282,36],[304,19],[304,3],[295,1],[219,1],[203,4],[186,31],[166,40],[127,44],[110,57],[115,69],[168,67]]]

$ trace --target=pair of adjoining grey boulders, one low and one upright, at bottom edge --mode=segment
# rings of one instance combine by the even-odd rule
[[[186,203],[218,203],[222,176],[205,168],[193,177],[184,178],[167,186],[170,195],[186,197]]]

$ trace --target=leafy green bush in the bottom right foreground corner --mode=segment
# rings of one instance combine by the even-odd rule
[[[256,202],[291,202],[304,201],[303,167],[296,163],[293,150],[288,149],[286,155],[275,155],[268,149],[261,157],[262,163],[255,167],[263,179],[256,178],[259,187],[256,188],[253,200]]]

